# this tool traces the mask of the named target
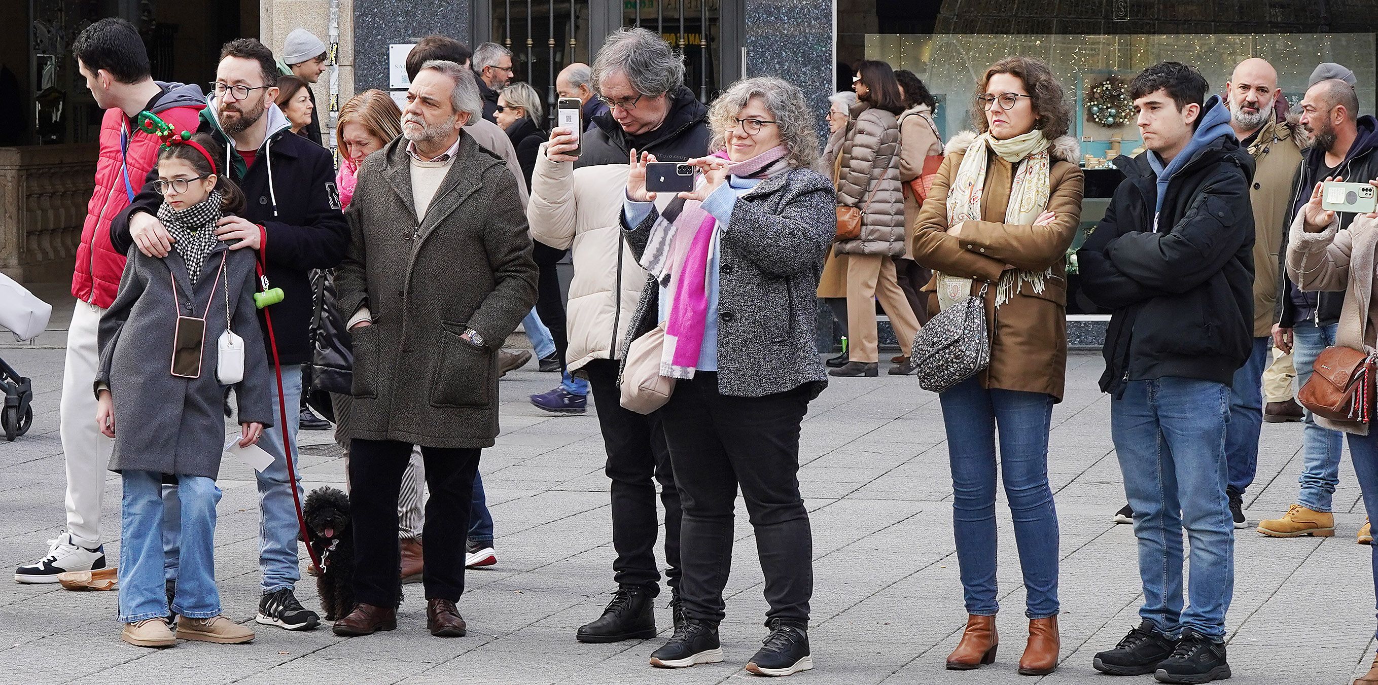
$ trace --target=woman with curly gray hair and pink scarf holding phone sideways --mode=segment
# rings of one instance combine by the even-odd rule
[[[810,168],[817,138],[799,88],[737,81],[708,120],[717,152],[688,161],[701,172],[695,189],[657,211],[646,190],[655,156],[631,150],[623,208],[627,244],[649,272],[627,338],[664,331],[660,375],[675,387],[657,413],[683,504],[685,620],[650,663],[722,660],[740,485],[770,605],[770,634],[747,671],[790,675],[813,667],[813,535],[796,474],[799,423],[827,385],[813,346],[814,291],[835,233],[834,192]]]

